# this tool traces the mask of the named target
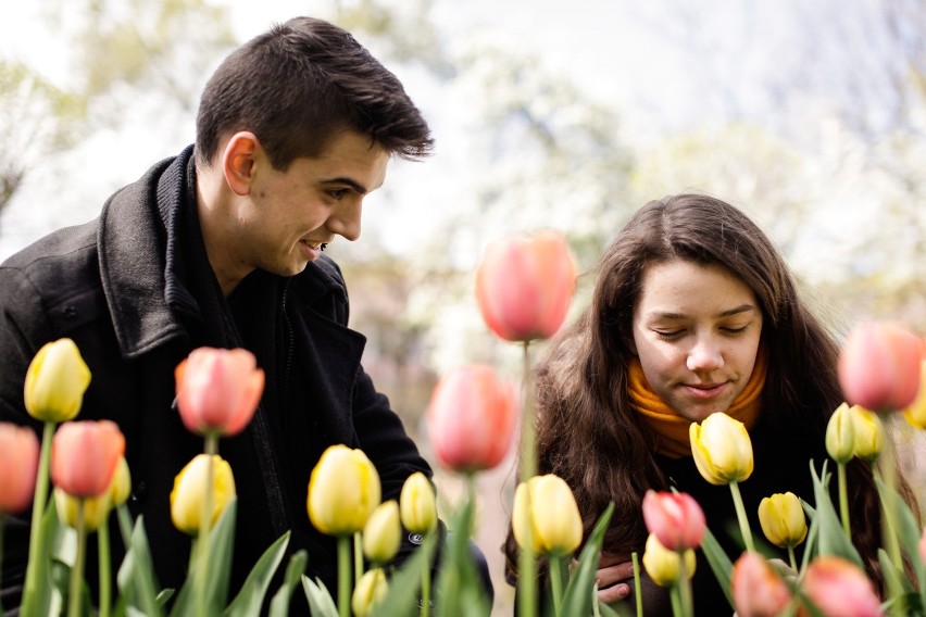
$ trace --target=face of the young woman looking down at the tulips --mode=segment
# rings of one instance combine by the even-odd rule
[[[643,269],[634,347],[650,387],[689,420],[729,408],[761,333],[755,294],[728,269],[683,260]]]

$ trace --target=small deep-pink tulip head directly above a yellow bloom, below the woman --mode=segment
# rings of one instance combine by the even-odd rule
[[[688,493],[647,491],[643,521],[660,544],[672,551],[697,549],[704,537],[704,511]]]

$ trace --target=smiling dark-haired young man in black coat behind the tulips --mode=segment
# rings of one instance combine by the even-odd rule
[[[360,365],[365,339],[347,328],[345,282],[322,251],[360,236],[361,204],[391,156],[431,146],[402,85],[351,35],[293,18],[218,67],[195,146],[113,194],[96,221],[0,266],[0,420],[32,421],[28,364],[42,344],[73,339],[92,373],[78,418],[110,418],[125,433],[129,506],[145,516],[162,587],[180,585],[189,556],[168,495],[202,451],[174,402],[174,367],[198,347],[246,348],[266,373],[254,419],[220,445],[238,489],[233,589],[287,530],[290,547],[309,552],[306,574],[335,589],[333,540],[305,509],[326,446],[362,449],[384,500],[410,474],[430,476]],[[25,574],[25,517],[8,519],[5,539],[9,608]]]

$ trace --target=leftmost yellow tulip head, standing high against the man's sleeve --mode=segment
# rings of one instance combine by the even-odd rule
[[[26,372],[26,411],[41,421],[63,423],[80,411],[90,369],[71,339],[46,343]]]

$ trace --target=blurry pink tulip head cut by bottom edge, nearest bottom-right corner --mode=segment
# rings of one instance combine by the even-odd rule
[[[811,562],[801,587],[803,593],[824,615],[884,615],[872,581],[859,567],[841,557],[825,555]]]

